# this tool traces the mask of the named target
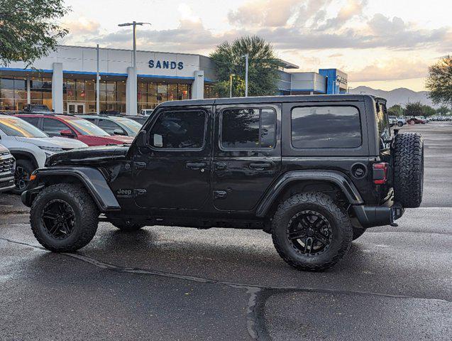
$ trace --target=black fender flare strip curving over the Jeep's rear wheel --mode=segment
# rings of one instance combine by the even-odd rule
[[[362,205],[364,203],[358,189],[346,175],[335,171],[290,171],[281,175],[267,190],[263,199],[260,200],[255,215],[257,217],[265,217],[278,195],[291,183],[300,180],[321,180],[334,183],[334,185],[337,185],[341,189],[351,205]]]

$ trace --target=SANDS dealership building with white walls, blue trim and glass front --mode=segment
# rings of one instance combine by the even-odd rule
[[[137,51],[137,82],[132,50],[99,48],[100,111],[153,109],[175,99],[216,97],[214,63],[204,55]],[[337,69],[297,72],[282,61],[280,94],[338,94],[347,90],[347,75]],[[0,65],[0,111],[45,104],[55,112],[96,112],[97,49],[60,45],[33,65]]]

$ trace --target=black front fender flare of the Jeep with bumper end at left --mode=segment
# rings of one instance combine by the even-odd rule
[[[114,193],[111,191],[104,175],[97,168],[92,167],[52,167],[52,168],[39,168],[33,172],[36,175],[34,181],[35,186],[30,190],[26,190],[22,193],[21,200],[24,205],[31,207],[35,196],[45,186],[46,178],[50,177],[67,177],[72,176],[84,185],[88,193],[96,202],[97,207],[101,212],[121,210],[121,206],[116,200]],[[63,181],[62,181],[63,182]]]

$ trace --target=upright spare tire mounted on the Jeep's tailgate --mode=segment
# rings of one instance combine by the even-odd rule
[[[414,133],[397,134],[392,145],[395,202],[406,208],[421,205],[424,190],[424,140]]]

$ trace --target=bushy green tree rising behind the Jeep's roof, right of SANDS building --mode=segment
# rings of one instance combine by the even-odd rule
[[[277,91],[277,72],[282,63],[270,43],[258,36],[246,36],[216,47],[214,60],[218,82],[215,90],[220,97],[229,97],[229,77],[233,76],[233,96],[245,95],[245,58],[248,59],[248,95],[265,96]]]

